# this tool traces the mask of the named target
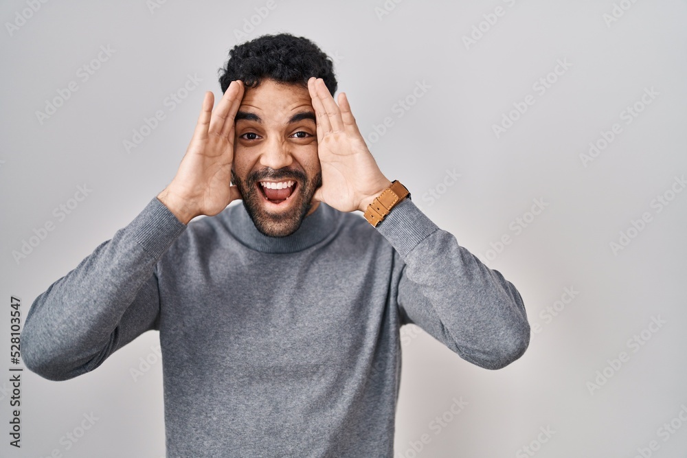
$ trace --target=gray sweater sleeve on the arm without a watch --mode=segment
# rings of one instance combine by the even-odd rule
[[[186,226],[157,197],[39,295],[26,316],[26,367],[48,380],[85,374],[159,329],[157,261]]]

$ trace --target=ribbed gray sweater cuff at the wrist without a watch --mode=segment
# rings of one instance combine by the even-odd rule
[[[141,213],[128,225],[134,240],[150,255],[157,259],[185,231],[186,225],[153,197]]]

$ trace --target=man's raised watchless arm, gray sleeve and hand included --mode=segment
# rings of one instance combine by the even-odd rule
[[[234,117],[243,82],[229,84],[214,110],[206,92],[191,142],[172,182],[130,225],[39,296],[26,317],[29,369],[66,380],[98,367],[146,330],[159,328],[155,266],[195,216],[240,198],[231,185]]]

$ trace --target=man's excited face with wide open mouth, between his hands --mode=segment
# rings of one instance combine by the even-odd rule
[[[258,230],[293,233],[322,185],[315,111],[307,87],[262,80],[236,113],[232,182]]]

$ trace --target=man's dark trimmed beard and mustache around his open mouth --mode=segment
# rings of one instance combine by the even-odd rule
[[[264,207],[264,194],[259,181],[263,180],[293,180],[297,184],[293,194],[289,197],[288,209],[278,213],[267,211]],[[286,237],[294,233],[303,222],[312,207],[313,196],[318,187],[322,186],[322,172],[317,172],[313,179],[301,170],[291,168],[262,168],[251,172],[245,181],[240,179],[232,169],[232,183],[238,187],[243,198],[243,206],[253,220],[253,224],[268,237]]]

